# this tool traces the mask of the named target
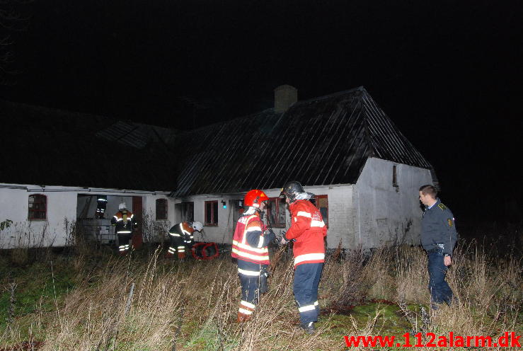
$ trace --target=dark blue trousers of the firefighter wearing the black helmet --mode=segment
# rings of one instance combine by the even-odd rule
[[[323,263],[303,263],[294,271],[293,292],[301,323],[318,321],[320,314],[318,285],[322,269]]]

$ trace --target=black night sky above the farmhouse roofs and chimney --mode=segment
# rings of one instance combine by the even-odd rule
[[[1,97],[187,129],[364,86],[459,211],[523,207],[518,1],[38,1],[16,5]],[[507,205],[512,204],[512,205]],[[521,211],[521,210],[519,210]],[[456,210],[454,211],[456,212]]]

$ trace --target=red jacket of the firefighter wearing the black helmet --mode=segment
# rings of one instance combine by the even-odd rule
[[[327,235],[327,226],[321,212],[309,200],[298,200],[289,206],[291,226],[285,238],[294,239],[294,267],[303,263],[323,263],[325,245],[323,238]]]

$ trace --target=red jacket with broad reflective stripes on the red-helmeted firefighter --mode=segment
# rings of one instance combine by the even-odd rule
[[[238,219],[232,240],[232,257],[251,263],[269,264],[267,248],[272,236],[263,235],[265,224],[258,214],[242,216]]]

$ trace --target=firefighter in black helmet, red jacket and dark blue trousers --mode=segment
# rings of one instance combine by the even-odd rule
[[[282,243],[294,241],[294,299],[298,305],[301,328],[312,334],[320,311],[318,284],[325,259],[323,238],[327,235],[327,227],[320,211],[309,201],[314,194],[305,192],[300,183],[292,181],[285,184],[280,196],[285,196],[292,217]]]

